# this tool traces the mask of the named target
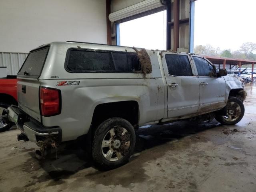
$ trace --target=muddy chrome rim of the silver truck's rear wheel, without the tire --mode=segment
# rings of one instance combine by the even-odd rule
[[[114,126],[104,136],[101,151],[109,161],[117,161],[125,156],[130,148],[130,134],[121,126]]]

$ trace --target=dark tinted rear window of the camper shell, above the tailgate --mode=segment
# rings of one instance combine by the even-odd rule
[[[49,46],[31,51],[18,72],[18,76],[38,78],[41,74]]]

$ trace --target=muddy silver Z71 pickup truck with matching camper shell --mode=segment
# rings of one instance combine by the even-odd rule
[[[18,140],[41,149],[79,140],[98,165],[115,168],[130,158],[139,126],[238,123],[246,92],[226,74],[196,54],[52,42],[28,54],[8,119],[21,130]]]

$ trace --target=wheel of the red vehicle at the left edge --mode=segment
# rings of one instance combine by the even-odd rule
[[[9,106],[8,104],[0,103],[0,132],[10,129],[13,125],[13,123],[8,120],[7,108]]]

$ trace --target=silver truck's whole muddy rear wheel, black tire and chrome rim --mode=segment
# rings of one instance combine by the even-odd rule
[[[98,126],[92,142],[92,158],[104,170],[122,166],[135,147],[135,131],[123,118],[110,118]]]

